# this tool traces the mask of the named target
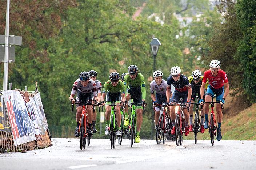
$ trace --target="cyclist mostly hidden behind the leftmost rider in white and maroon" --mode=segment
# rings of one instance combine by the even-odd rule
[[[97,92],[98,92],[98,103],[100,103],[100,100],[101,100],[101,88],[102,88],[102,85],[101,85],[101,82],[99,80],[96,80],[97,78],[97,72],[94,71],[94,70],[90,70],[89,71],[90,73],[90,78],[96,82],[96,87],[97,87]],[[97,132],[97,129],[95,127],[95,124],[96,124],[96,118],[97,118],[97,112],[96,112],[96,109],[95,109],[95,112],[92,112],[92,132],[93,133],[96,133]]]

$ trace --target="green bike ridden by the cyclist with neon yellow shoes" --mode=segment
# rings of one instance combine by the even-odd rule
[[[136,102],[127,102],[127,104],[131,104],[131,117],[129,119],[129,135],[130,135],[130,142],[131,147],[132,144],[135,143],[135,135],[136,135],[136,106],[135,105],[141,105],[142,103],[136,103]],[[143,105],[144,110],[144,105]]]

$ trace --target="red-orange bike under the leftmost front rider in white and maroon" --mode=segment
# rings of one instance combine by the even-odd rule
[[[86,139],[87,139],[87,145],[90,146],[91,136],[88,136],[89,127],[88,127],[88,120],[87,120],[87,106],[86,105],[93,105],[92,103],[85,103],[85,102],[76,102],[75,105],[83,105],[82,108],[82,114],[80,117],[80,124],[78,133],[80,133],[80,149],[82,150],[82,147],[85,149]],[[74,111],[74,104],[72,104],[72,111]],[[95,106],[93,105],[93,112],[95,112]]]

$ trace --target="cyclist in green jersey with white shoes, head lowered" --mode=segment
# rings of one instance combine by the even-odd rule
[[[101,103],[102,105],[105,104],[119,104],[124,105],[125,102],[125,89],[124,89],[124,83],[119,80],[120,75],[117,72],[112,72],[109,75],[109,79],[107,82],[105,82],[102,95],[101,95]],[[107,102],[105,103],[105,97],[107,95]],[[121,106],[115,106],[116,109],[116,120],[117,120],[117,131],[116,135],[120,137],[121,134],[121,113],[120,113],[120,107]],[[105,129],[105,135],[109,134],[109,122],[110,122],[110,114],[111,114],[111,106],[105,106],[106,112],[105,112],[105,119],[106,119],[106,129]]]

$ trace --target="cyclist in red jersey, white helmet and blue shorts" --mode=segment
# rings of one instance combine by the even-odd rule
[[[204,102],[204,89],[205,83],[209,80],[209,85],[205,94],[205,102],[211,102],[212,97],[216,94],[216,101],[220,101],[220,104],[216,104],[216,112],[217,112],[217,140],[220,141],[222,138],[221,135],[221,122],[222,122],[222,110],[221,104],[225,103],[225,98],[229,93],[229,84],[228,84],[228,77],[226,72],[220,69],[220,61],[212,60],[210,63],[210,69],[204,72],[203,82],[200,88],[201,91],[201,99],[200,104],[202,105]],[[209,128],[209,120],[208,120],[208,113],[209,113],[209,103],[204,104],[204,112],[205,112],[205,122],[204,128]]]

